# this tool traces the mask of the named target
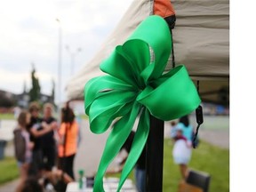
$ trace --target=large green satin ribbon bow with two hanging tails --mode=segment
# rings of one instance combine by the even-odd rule
[[[93,191],[104,191],[104,174],[132,131],[137,116],[140,121],[117,191],[146,144],[149,115],[172,120],[187,115],[200,104],[196,87],[183,65],[163,74],[172,50],[171,41],[165,20],[149,16],[100,64],[108,76],[92,78],[85,84],[85,113],[89,116],[91,131],[106,132],[117,118],[100,160]]]

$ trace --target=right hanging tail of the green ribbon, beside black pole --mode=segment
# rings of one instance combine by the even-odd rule
[[[132,148],[130,154],[124,164],[124,169],[119,180],[119,185],[117,191],[119,191],[124,185],[124,181],[128,177],[129,173],[132,171],[132,168],[137,163],[140,154],[148,140],[149,132],[149,112],[147,108],[144,108],[141,116],[140,122],[138,124],[137,131],[135,133],[134,140],[132,142]]]

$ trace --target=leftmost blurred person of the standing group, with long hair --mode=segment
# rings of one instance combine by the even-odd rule
[[[26,129],[29,122],[29,113],[25,110],[21,111],[18,116],[18,127],[13,131],[15,157],[20,169],[20,183],[16,188],[17,192],[20,192],[22,183],[28,178],[28,168],[32,160],[34,143],[29,140],[29,132]]]

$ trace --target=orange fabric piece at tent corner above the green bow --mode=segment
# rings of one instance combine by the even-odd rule
[[[175,14],[172,3],[170,0],[155,0],[154,1],[154,14],[163,18]]]

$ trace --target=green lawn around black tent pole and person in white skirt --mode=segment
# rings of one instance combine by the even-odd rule
[[[173,143],[170,139],[164,140],[164,171],[163,191],[178,191],[181,180],[180,168],[172,160]],[[198,148],[193,149],[192,159],[188,167],[196,171],[207,172],[211,175],[209,192],[229,191],[229,150],[214,147],[211,144],[200,140]],[[107,175],[107,177],[119,177],[118,174]],[[130,173],[133,180],[133,172]]]

